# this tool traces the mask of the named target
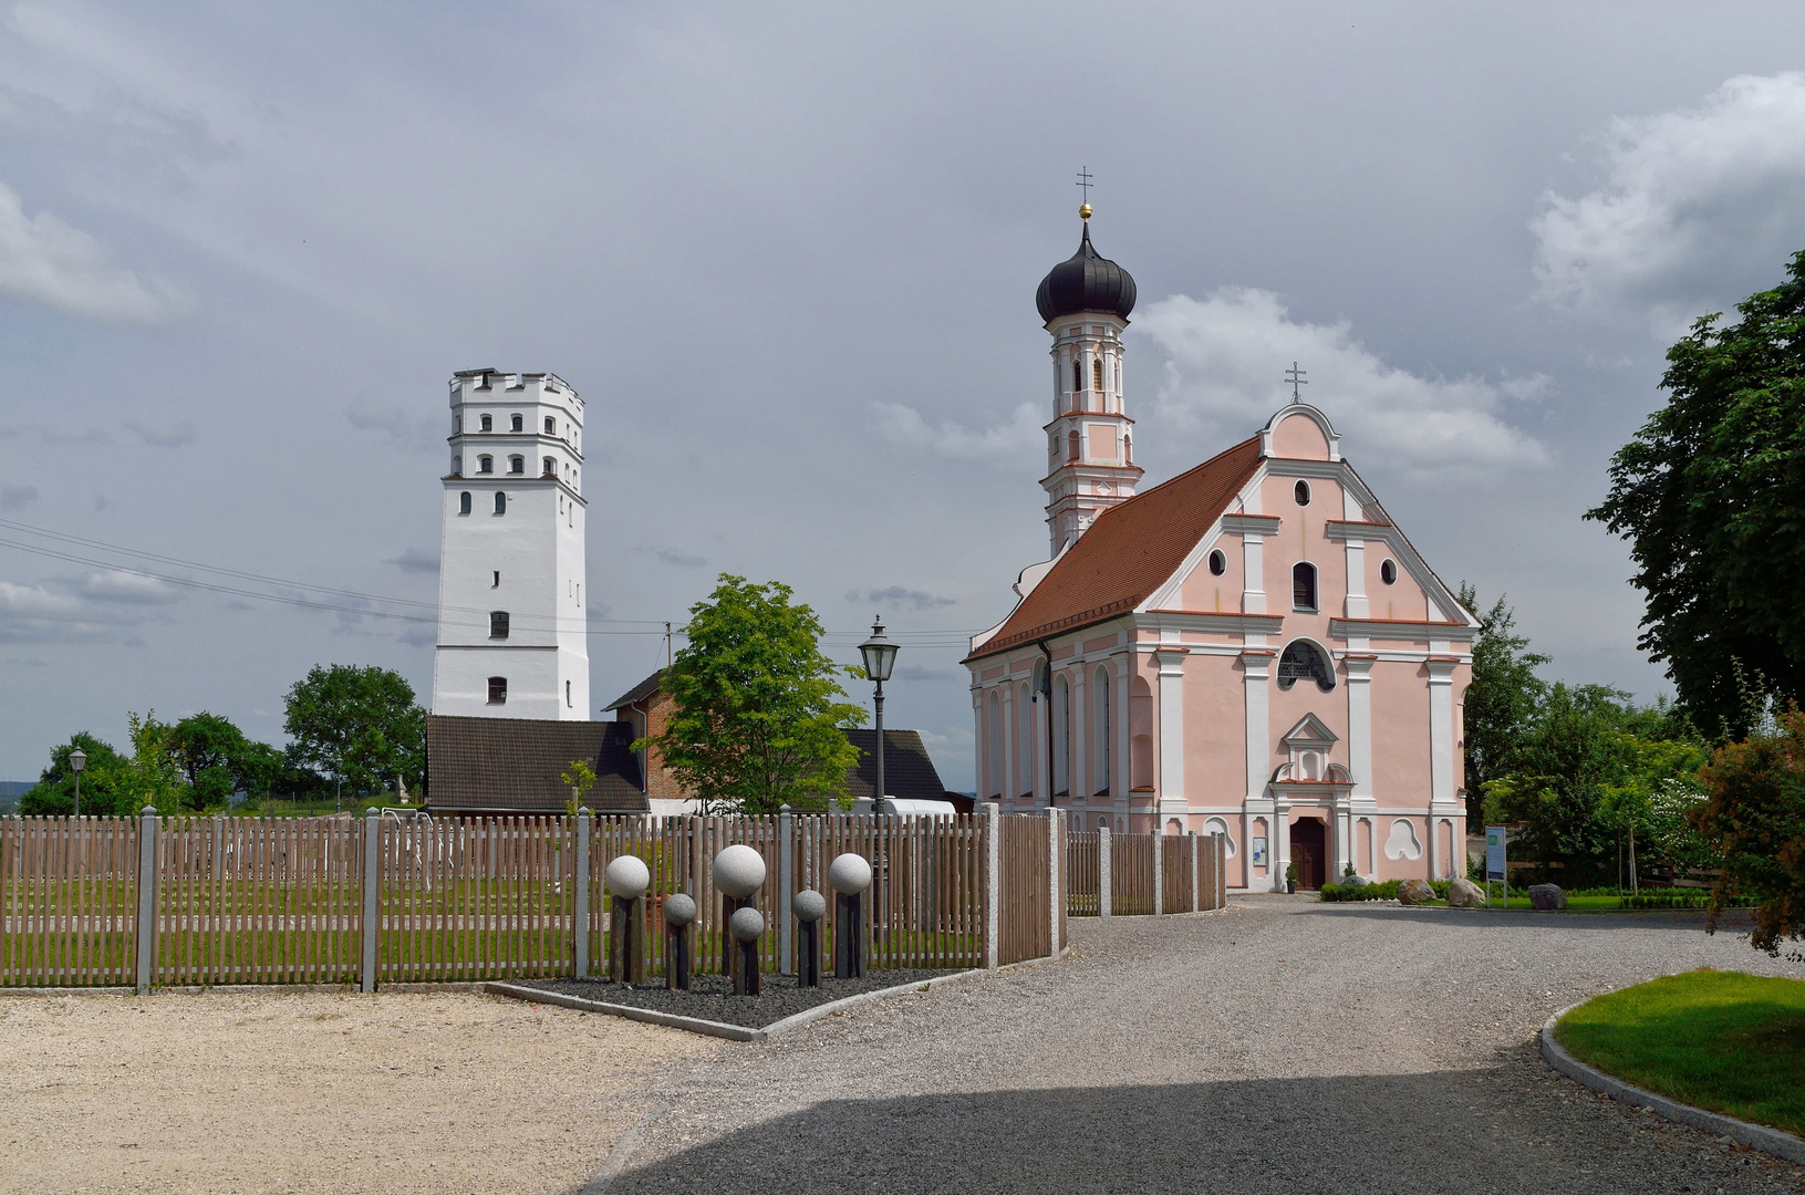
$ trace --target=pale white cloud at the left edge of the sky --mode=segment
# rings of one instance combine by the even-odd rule
[[[97,240],[49,211],[25,215],[0,182],[0,292],[72,316],[121,323],[164,323],[188,310],[168,283],[117,269]]]

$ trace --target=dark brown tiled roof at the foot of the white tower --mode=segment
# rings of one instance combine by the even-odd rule
[[[540,718],[426,718],[426,805],[446,812],[561,812],[570,789],[558,776],[588,760],[597,814],[646,812],[630,722]]]

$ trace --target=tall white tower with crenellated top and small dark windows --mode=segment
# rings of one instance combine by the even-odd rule
[[[433,713],[587,722],[583,399],[464,370],[449,444]]]

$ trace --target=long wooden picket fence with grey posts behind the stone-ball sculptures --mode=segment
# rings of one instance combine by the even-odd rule
[[[697,901],[693,966],[724,960],[711,863],[765,857],[762,966],[794,971],[791,897],[872,863],[868,966],[975,968],[1065,946],[1063,818],[0,818],[0,986],[466,982],[599,973],[608,861]],[[828,917],[827,962],[838,944]]]

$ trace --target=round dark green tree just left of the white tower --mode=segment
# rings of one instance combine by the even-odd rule
[[[381,792],[403,776],[419,789],[426,771],[426,711],[413,686],[386,668],[314,666],[289,688],[283,729],[289,760],[352,792]]]

